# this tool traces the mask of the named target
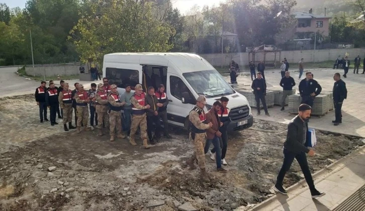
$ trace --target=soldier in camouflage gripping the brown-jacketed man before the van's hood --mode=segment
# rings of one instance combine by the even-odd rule
[[[189,114],[190,120],[190,135],[189,140],[194,144],[194,153],[187,160],[187,164],[190,168],[195,169],[194,161],[198,159],[198,165],[201,170],[202,179],[209,182],[208,174],[205,170],[205,153],[204,147],[206,143],[206,129],[212,127],[212,123],[206,124],[204,107],[206,104],[206,99],[204,96],[199,96],[197,99],[197,105]]]

